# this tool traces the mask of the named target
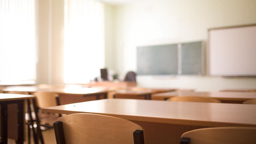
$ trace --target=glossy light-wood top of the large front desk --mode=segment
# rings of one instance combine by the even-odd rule
[[[104,99],[43,108],[42,111],[96,113],[129,120],[195,126],[256,126],[256,105],[245,104]]]

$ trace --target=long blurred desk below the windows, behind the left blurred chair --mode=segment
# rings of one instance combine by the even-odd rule
[[[82,88],[82,87],[56,87],[56,88],[38,88],[37,86],[15,86],[3,89],[8,92],[54,92],[59,95],[60,104],[72,104],[76,102],[85,102],[90,100],[100,100],[107,98],[108,89],[100,88]]]

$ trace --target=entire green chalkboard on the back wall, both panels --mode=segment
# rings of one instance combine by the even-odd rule
[[[138,75],[204,74],[203,42],[137,47]]]

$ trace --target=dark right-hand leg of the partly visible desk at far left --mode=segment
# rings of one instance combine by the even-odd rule
[[[24,101],[18,101],[18,144],[24,141]]]

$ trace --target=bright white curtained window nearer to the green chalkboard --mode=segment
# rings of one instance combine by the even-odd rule
[[[87,83],[104,67],[104,5],[65,0],[64,82]]]

